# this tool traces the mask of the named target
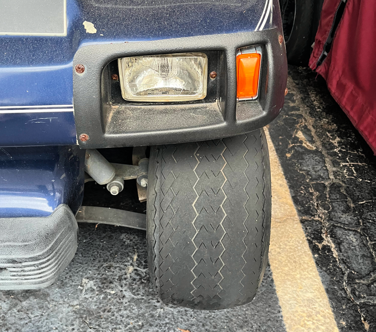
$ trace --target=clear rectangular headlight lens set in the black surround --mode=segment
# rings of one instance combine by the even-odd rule
[[[193,101],[206,97],[204,53],[146,55],[118,59],[121,95],[136,102]]]

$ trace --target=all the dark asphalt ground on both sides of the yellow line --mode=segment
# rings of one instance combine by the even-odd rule
[[[288,91],[269,132],[338,330],[376,331],[376,158],[315,73],[289,67]],[[131,163],[127,151],[111,161]],[[103,200],[105,188],[88,183],[84,205],[145,213],[134,181],[128,188]],[[80,224],[76,257],[58,282],[0,292],[0,330],[284,332],[277,294],[268,267],[246,306],[166,306],[148,275],[143,231]]]

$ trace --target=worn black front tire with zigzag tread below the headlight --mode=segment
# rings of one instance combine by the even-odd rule
[[[148,176],[149,270],[162,301],[207,310],[250,302],[270,238],[263,129],[154,146]]]

